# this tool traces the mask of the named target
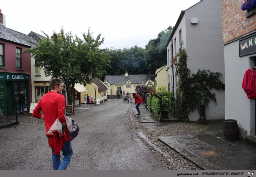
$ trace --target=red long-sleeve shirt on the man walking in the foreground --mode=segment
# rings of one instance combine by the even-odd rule
[[[33,110],[33,117],[41,118],[40,111],[43,110],[44,124],[46,132],[49,131],[56,118],[59,118],[61,123],[65,122],[65,97],[55,91],[49,91],[45,94]]]

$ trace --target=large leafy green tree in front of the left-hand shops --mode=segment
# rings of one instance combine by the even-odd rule
[[[35,66],[44,68],[46,76],[63,79],[71,103],[75,83],[86,86],[91,83],[92,78],[101,77],[103,67],[109,67],[110,56],[99,48],[104,38],[99,34],[95,39],[90,29],[82,34],[83,40],[77,35],[74,38],[71,32],[64,34],[63,28],[60,29],[60,36],[53,33],[53,40],[45,35],[46,39],[34,43],[35,47],[26,49],[23,54],[31,53],[31,57],[37,60]]]

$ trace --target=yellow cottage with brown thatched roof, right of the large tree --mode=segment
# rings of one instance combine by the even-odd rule
[[[96,86],[96,91],[94,90],[94,86]],[[84,96],[89,95],[90,97],[93,97],[96,100],[100,100],[101,102],[101,95],[104,95],[105,100],[107,100],[107,90],[108,88],[105,86],[105,84],[98,79],[97,77],[92,79],[91,84],[87,84],[85,86],[88,91],[84,91],[81,93],[81,103],[84,103]]]

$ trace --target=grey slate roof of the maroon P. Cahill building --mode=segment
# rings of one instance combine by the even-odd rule
[[[38,43],[38,40],[36,38],[17,32],[13,29],[9,29],[4,25],[0,25],[0,39],[9,41],[9,42],[18,43],[20,45],[24,45],[28,47],[34,47],[34,45],[28,41]]]

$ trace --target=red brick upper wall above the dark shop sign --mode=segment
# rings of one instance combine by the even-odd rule
[[[243,0],[222,0],[222,39],[223,43],[235,40],[256,30],[256,14],[245,17],[242,11]]]

